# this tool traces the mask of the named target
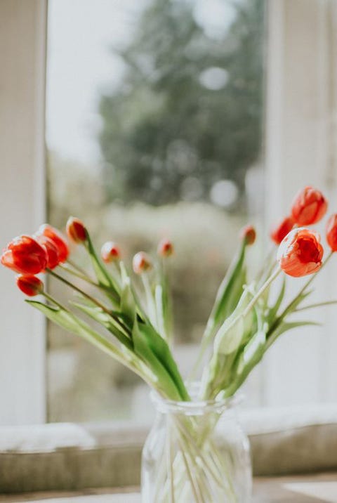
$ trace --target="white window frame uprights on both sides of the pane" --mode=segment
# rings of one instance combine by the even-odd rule
[[[267,55],[267,226],[289,207],[303,183],[331,192],[337,207],[336,55],[337,8],[333,0],[269,0]],[[333,22],[335,23],[333,25]],[[0,239],[32,232],[46,218],[45,74],[47,0],[0,2]],[[331,41],[333,42],[331,44]],[[326,59],[322,60],[322,54]],[[333,113],[332,113],[333,112]],[[299,169],[300,167],[300,169]],[[291,189],[291,190],[290,190]],[[336,190],[335,190],[336,192]],[[5,214],[6,209],[6,214]],[[334,266],[333,273],[337,273]],[[1,268],[0,425],[46,422],[46,323],[13,288]],[[331,270],[330,270],[331,274]],[[337,298],[329,278],[327,296]],[[330,317],[330,318],[329,318]],[[279,341],[263,363],[263,401],[276,405],[336,400],[337,338],[333,315],[326,336],[293,334]],[[315,331],[316,332],[316,331]],[[305,344],[303,342],[305,337]],[[298,381],[298,354],[308,381]],[[286,362],[286,375],[284,372]],[[310,372],[309,372],[310,370]]]

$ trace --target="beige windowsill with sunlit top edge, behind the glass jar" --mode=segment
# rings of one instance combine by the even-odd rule
[[[337,471],[337,405],[244,410],[240,418],[256,476]],[[116,424],[0,428],[0,493],[139,485],[147,432]]]

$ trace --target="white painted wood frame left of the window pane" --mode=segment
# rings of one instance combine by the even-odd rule
[[[0,1],[0,240],[46,218],[46,0]],[[46,418],[45,322],[0,268],[0,424]]]

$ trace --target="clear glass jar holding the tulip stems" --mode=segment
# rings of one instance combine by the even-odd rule
[[[157,410],[142,457],[143,503],[249,503],[249,440],[235,406],[237,398],[164,400],[152,393]]]

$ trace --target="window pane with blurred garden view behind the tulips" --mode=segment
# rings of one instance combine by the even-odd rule
[[[262,218],[263,36],[263,0],[49,1],[49,221],[78,216],[128,265],[173,240],[184,375],[239,229]],[[257,401],[257,374],[249,386]],[[49,325],[49,420],[139,419],[145,404],[131,372]]]

